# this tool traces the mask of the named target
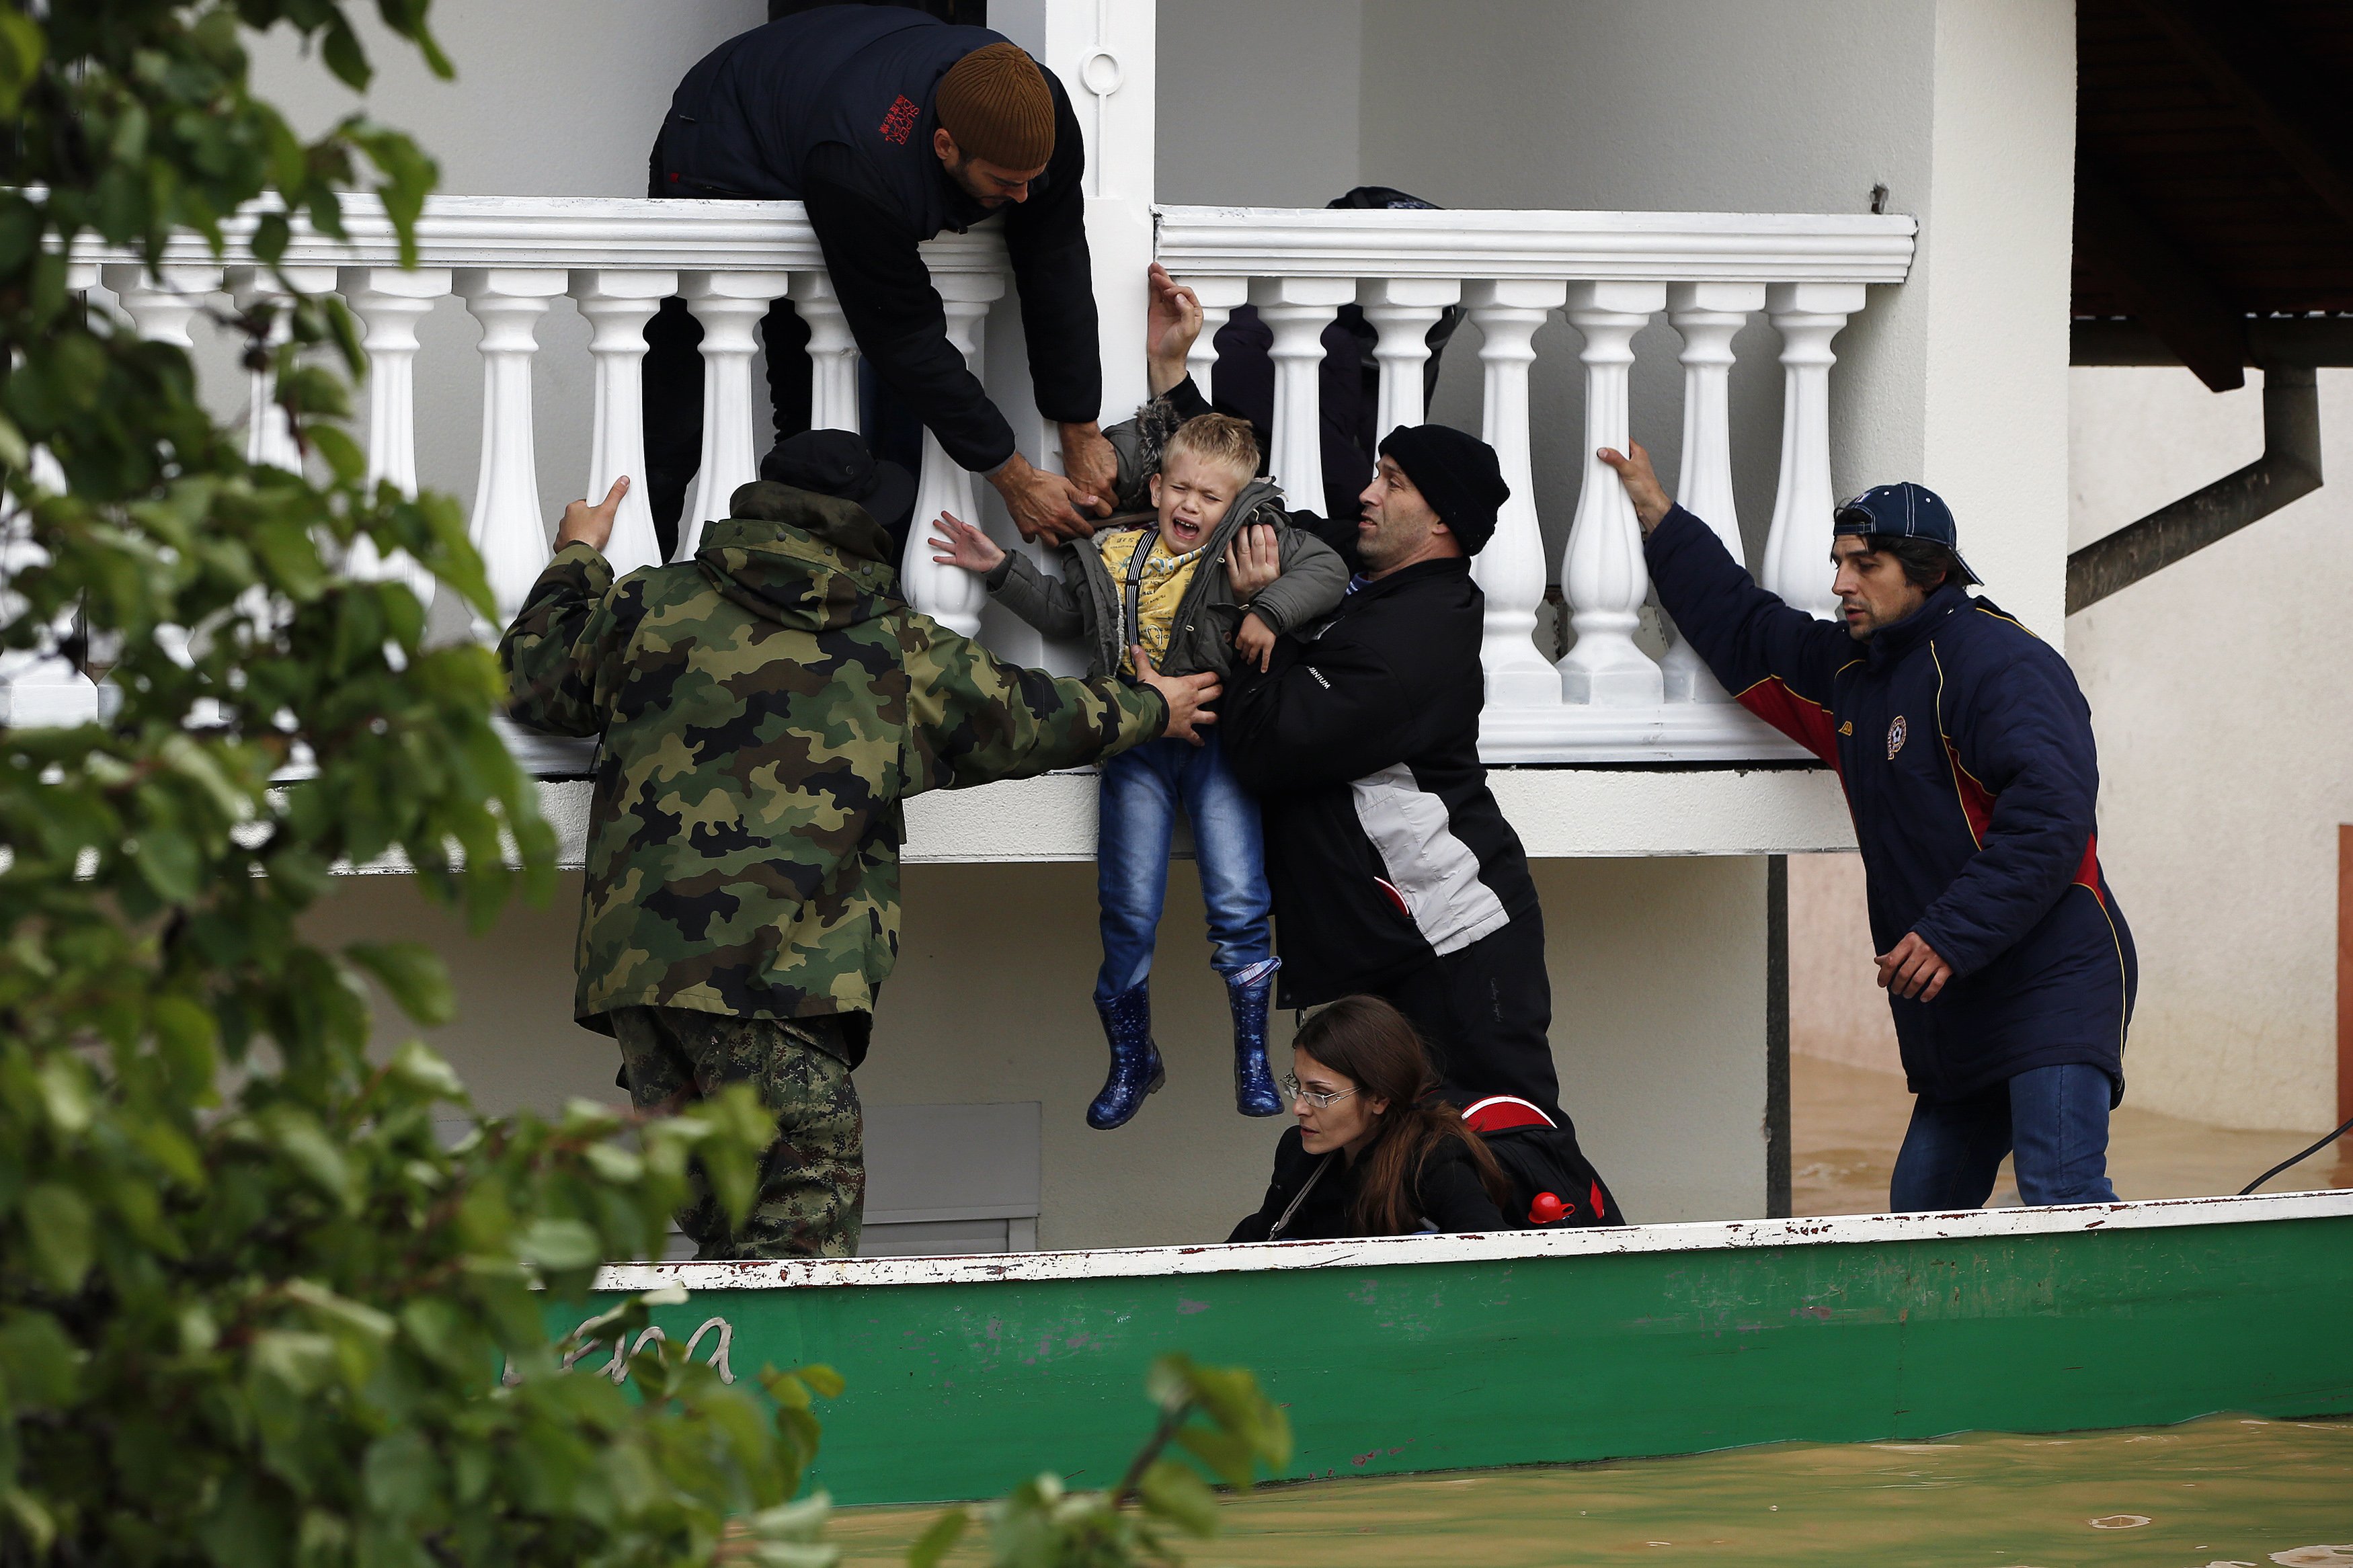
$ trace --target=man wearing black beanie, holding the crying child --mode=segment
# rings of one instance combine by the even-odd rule
[[[1362,574],[1266,672],[1235,670],[1219,731],[1266,811],[1282,1006],[1386,997],[1457,1103],[1520,1095],[1567,1126],[1537,884],[1478,759],[1471,557],[1508,496],[1487,442],[1391,430],[1355,527]]]

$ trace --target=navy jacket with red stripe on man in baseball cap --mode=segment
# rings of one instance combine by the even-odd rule
[[[1642,552],[1725,691],[1838,769],[1871,940],[1918,931],[1953,966],[1934,1001],[1887,997],[1913,1091],[2087,1063],[2122,1098],[2139,961],[2099,870],[2092,710],[2066,661],[1953,583],[1857,642],[1758,588],[1680,505]]]

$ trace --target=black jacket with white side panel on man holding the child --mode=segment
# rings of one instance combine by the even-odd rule
[[[1419,562],[1233,672],[1219,733],[1266,811],[1282,1006],[1367,990],[1537,907],[1478,759],[1487,599]]]

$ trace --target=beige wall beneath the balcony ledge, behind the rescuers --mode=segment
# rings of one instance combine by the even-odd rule
[[[1762,860],[1539,860],[1562,1098],[1588,1152],[1642,1220],[1765,1211]],[[579,877],[546,910],[482,938],[407,877],[351,877],[318,910],[320,940],[402,936],[438,947],[461,1020],[435,1048],[489,1112],[619,1103],[612,1041],[572,1023]],[[1282,1121],[1233,1112],[1226,997],[1200,938],[1191,863],[1169,879],[1153,978],[1169,1081],[1118,1133],[1089,1131],[1104,1046],[1094,870],[925,865],[906,872],[906,938],[859,1070],[868,1105],[1038,1100],[1040,1246],[1224,1239],[1257,1208]],[[1633,976],[1673,973],[1673,985]],[[379,1009],[384,1039],[407,1034]],[[1289,1039],[1289,1018],[1278,1018]],[[1282,1051],[1278,1051],[1278,1058]]]

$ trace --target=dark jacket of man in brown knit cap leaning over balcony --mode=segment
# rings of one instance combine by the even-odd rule
[[[1005,42],[889,5],[828,5],[729,38],[678,85],[654,146],[664,195],[802,202],[859,353],[899,390],[941,449],[972,470],[1014,454],[918,242],[991,216],[932,150],[939,78]],[[1101,411],[1082,174],[1087,141],[1052,71],[1054,158],[1026,202],[1005,209],[1038,411],[1085,423]]]

